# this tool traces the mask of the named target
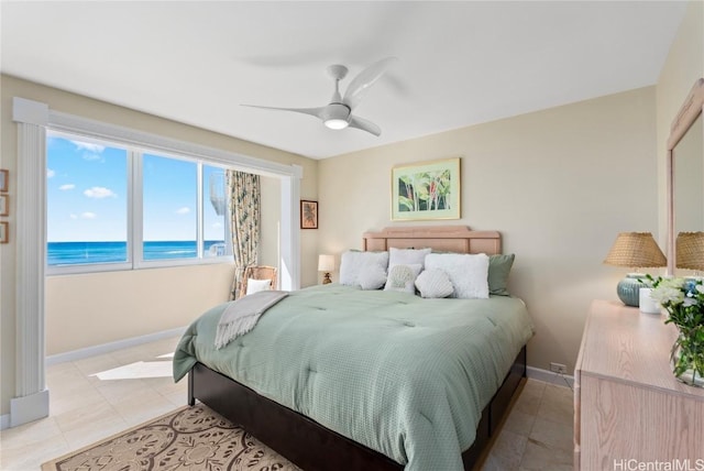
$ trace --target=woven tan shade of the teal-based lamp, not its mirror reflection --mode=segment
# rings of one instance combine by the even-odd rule
[[[604,263],[645,269],[664,266],[668,262],[650,232],[620,232]]]

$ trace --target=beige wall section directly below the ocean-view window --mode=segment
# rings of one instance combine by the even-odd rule
[[[187,326],[228,300],[232,264],[51,276],[46,354]]]

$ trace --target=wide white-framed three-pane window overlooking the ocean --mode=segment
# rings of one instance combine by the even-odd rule
[[[50,273],[230,260],[224,167],[58,132],[46,149]]]

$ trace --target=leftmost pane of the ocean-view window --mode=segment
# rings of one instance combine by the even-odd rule
[[[47,136],[48,265],[129,261],[128,162],[123,147]]]

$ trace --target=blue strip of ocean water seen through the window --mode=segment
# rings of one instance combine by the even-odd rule
[[[205,242],[204,256],[224,254],[224,243],[218,240]],[[196,241],[144,242],[144,260],[191,259],[197,256]],[[48,242],[46,260],[50,265],[76,265],[81,263],[127,262],[127,242]]]

